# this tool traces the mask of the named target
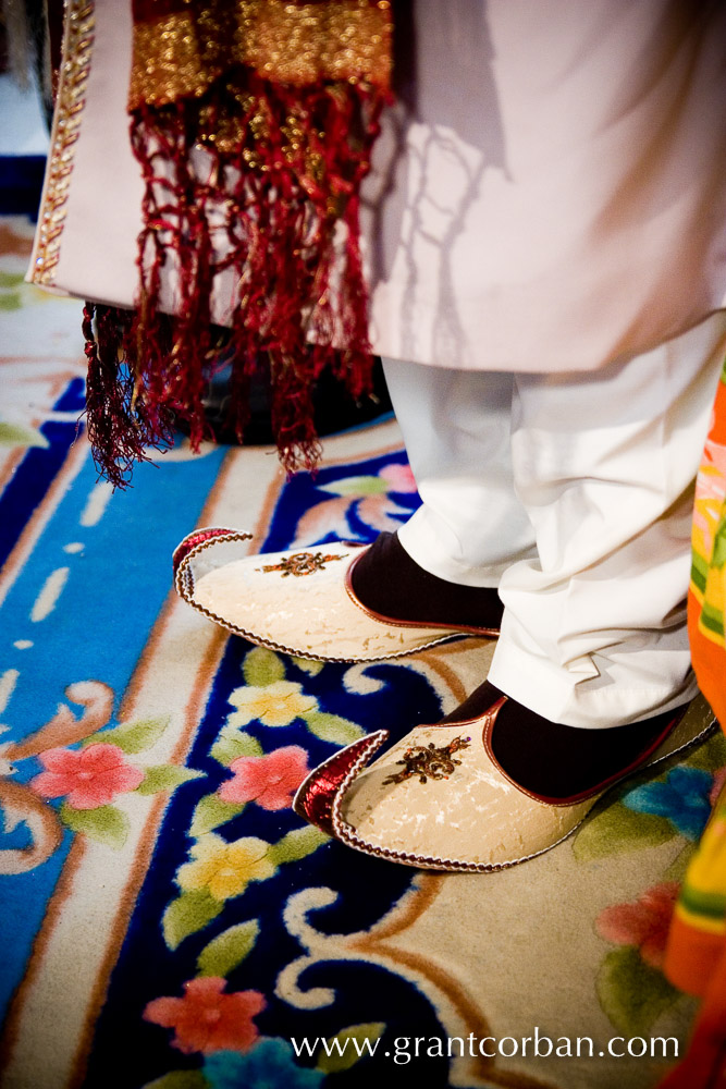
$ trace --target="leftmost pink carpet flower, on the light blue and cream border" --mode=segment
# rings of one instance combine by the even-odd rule
[[[72,809],[98,809],[116,794],[136,790],[144,779],[140,768],[124,761],[118,745],[47,749],[40,760],[46,770],[30,780],[30,787],[41,798],[65,797]]]

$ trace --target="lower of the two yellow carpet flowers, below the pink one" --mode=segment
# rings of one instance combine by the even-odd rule
[[[194,861],[185,862],[176,881],[185,892],[207,889],[214,900],[230,900],[244,892],[250,881],[273,877],[276,866],[267,857],[270,844],[248,835],[226,843],[207,832],[192,848]]]

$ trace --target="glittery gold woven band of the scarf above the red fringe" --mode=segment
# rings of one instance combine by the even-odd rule
[[[232,64],[295,87],[325,79],[387,89],[390,9],[389,0],[209,0],[136,23],[128,108],[200,97]]]

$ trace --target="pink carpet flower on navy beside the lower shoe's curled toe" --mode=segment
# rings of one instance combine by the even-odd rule
[[[224,802],[256,802],[262,809],[286,809],[308,771],[308,757],[299,745],[286,745],[266,756],[233,760],[229,779],[219,788]]]

